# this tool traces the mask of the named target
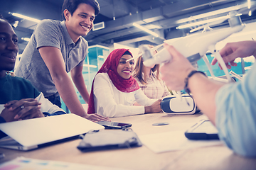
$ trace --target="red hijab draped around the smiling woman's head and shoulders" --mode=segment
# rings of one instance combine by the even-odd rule
[[[102,67],[97,72],[97,74],[98,73],[107,73],[108,76],[110,77],[112,83],[119,91],[122,91],[124,93],[130,93],[132,91],[138,90],[139,84],[132,76],[129,77],[129,79],[124,79],[124,78],[120,77],[117,72],[117,66],[119,64],[119,60],[124,55],[125,52],[129,52],[129,50],[124,49],[124,48],[113,50],[110,53],[110,55],[107,57],[107,60],[103,63]],[[132,56],[132,53],[129,52],[129,55]],[[95,75],[95,77],[96,77],[96,75]],[[89,104],[88,104],[87,113],[89,113],[89,114],[95,113],[93,84],[94,84],[94,79],[92,81],[92,90],[90,93],[90,99],[89,99]]]

